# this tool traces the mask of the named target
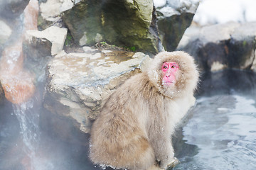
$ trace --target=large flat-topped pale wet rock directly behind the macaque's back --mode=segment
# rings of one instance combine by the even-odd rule
[[[83,132],[90,132],[91,120],[108,96],[144,69],[149,57],[142,52],[84,50],[63,52],[48,64],[44,106],[51,113],[75,120]]]

